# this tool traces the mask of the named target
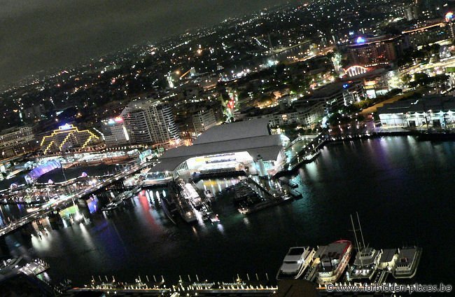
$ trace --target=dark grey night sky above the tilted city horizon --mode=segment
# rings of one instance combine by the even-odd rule
[[[286,0],[0,0],[0,85]]]

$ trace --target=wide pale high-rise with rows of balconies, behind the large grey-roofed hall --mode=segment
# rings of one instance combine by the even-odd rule
[[[158,99],[130,102],[121,115],[134,144],[179,144],[179,129],[169,104]]]

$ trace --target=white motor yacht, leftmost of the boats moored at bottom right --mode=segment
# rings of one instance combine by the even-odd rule
[[[283,264],[276,273],[276,280],[297,279],[313,261],[314,249],[309,247],[291,247],[284,256]]]

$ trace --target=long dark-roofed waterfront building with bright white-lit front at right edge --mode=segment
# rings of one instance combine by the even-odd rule
[[[455,126],[455,97],[407,99],[377,109],[383,127],[427,129]]]

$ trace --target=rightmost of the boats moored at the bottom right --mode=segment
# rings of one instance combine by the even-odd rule
[[[417,267],[419,266],[421,255],[421,247],[406,247],[400,249],[395,270],[392,272],[393,277],[396,279],[414,277],[417,272]]]

